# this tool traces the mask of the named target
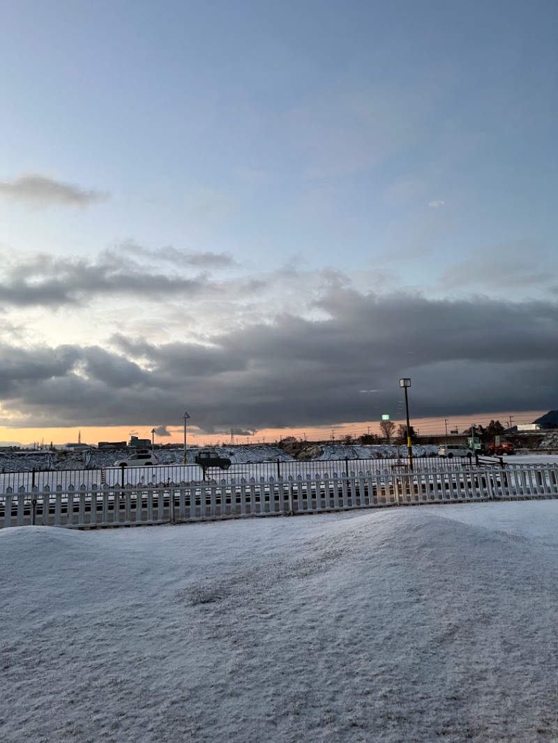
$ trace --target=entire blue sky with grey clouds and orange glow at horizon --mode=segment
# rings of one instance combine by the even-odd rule
[[[401,377],[419,421],[556,409],[557,32],[4,0],[0,438],[377,429]]]

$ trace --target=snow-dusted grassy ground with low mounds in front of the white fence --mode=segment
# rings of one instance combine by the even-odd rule
[[[558,501],[0,531],[0,740],[558,740]]]

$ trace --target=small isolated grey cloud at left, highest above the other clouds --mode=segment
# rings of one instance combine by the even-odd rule
[[[44,175],[20,175],[13,181],[0,181],[0,196],[22,201],[33,207],[89,207],[109,198],[108,192],[83,189]]]

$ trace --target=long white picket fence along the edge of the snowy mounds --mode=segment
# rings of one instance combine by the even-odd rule
[[[97,528],[426,503],[557,498],[558,464],[440,473],[319,473],[202,483],[83,484],[0,495],[0,528]]]

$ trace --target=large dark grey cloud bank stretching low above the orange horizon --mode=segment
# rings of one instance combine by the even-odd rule
[[[180,425],[187,409],[207,432],[395,417],[403,376],[417,418],[558,407],[554,302],[332,288],[316,308],[327,319],[283,315],[209,345],[4,345],[0,398],[22,426]]]

